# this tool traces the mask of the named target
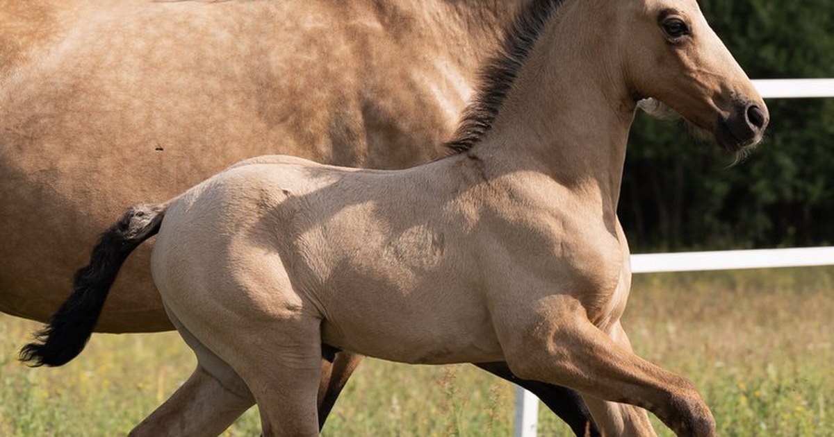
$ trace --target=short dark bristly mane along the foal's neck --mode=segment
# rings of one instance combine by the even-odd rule
[[[480,84],[464,110],[452,140],[445,143],[455,153],[470,150],[490,131],[507,93],[545,24],[564,0],[534,0],[504,32],[498,52],[480,68]]]

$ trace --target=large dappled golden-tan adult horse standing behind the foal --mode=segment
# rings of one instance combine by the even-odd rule
[[[0,310],[48,321],[124,205],[236,161],[441,156],[475,66],[529,1],[0,2]],[[149,247],[123,266],[96,330],[173,329]],[[322,422],[358,360],[335,355],[332,380],[324,363]],[[585,430],[569,390],[481,366]]]

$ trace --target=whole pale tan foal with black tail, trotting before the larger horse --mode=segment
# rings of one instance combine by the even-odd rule
[[[505,361],[579,390],[611,435],[654,434],[636,407],[714,435],[691,382],[634,355],[620,325],[625,142],[653,97],[741,151],[761,140],[764,102],[694,0],[538,0],[508,41],[455,155],[404,171],[263,156],[128,211],[24,358],[77,354],[89,330],[73,324],[100,310],[86,304],[158,232],[154,281],[199,365],[181,389],[195,398],[174,395],[138,432],[219,431],[254,399],[264,434],[314,435],[324,340],[409,363]]]

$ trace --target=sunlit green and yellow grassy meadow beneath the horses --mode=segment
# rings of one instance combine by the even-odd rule
[[[636,276],[636,351],[694,380],[720,435],[834,435],[834,269]],[[172,333],[96,335],[62,369],[17,350],[38,325],[0,316],[0,435],[123,435],[190,373]],[[366,360],[324,435],[510,435],[513,389],[470,365]],[[661,435],[671,432],[656,422]],[[541,435],[569,435],[544,408]],[[226,435],[258,435],[250,410]]]

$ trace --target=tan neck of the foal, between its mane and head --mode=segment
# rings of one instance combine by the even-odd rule
[[[472,153],[496,172],[544,172],[615,211],[635,102],[620,65],[605,55],[605,32],[587,31],[605,17],[577,17],[577,3],[551,17]]]

